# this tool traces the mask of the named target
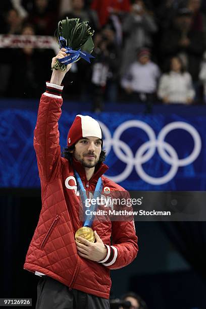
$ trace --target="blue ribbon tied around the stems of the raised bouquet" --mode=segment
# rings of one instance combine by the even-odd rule
[[[66,54],[70,54],[70,56],[66,56],[62,59],[58,59],[59,62],[61,62],[64,65],[68,65],[70,63],[73,63],[74,61],[76,61],[79,57],[81,57],[82,59],[86,60],[87,62],[90,63],[90,58],[95,58],[93,57],[91,54],[87,53],[87,52],[81,52],[81,48],[79,50],[73,50],[71,47],[67,47],[67,41],[63,36],[60,36],[60,47],[61,48],[65,48],[67,49],[67,52],[65,52]]]

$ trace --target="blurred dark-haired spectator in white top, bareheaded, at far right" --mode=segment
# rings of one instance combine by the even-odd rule
[[[160,78],[158,96],[165,104],[192,104],[194,94],[191,75],[185,72],[181,59],[171,58],[168,73]]]

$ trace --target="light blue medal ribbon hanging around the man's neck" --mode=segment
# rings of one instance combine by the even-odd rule
[[[81,201],[82,201],[82,204],[83,204],[83,211],[84,211],[84,218],[85,218],[83,226],[91,227],[93,220],[94,220],[94,215],[86,215],[87,207],[85,206],[85,202],[88,199],[88,197],[86,195],[86,190],[83,186],[83,183],[81,181],[79,174],[76,171],[74,171],[74,175],[75,175],[75,178],[77,180],[77,188],[78,188],[79,195],[81,197]],[[93,198],[92,198],[93,201],[94,201],[94,199],[96,200],[98,196],[99,197],[101,196],[101,191],[102,191],[102,181],[101,181],[101,177],[99,177],[97,184],[96,184],[96,187],[95,187],[95,190],[94,190],[94,195],[93,195]],[[98,206],[97,200],[96,200],[95,203],[92,202],[92,204],[89,207],[90,213],[95,212],[96,209],[97,209],[97,206]]]

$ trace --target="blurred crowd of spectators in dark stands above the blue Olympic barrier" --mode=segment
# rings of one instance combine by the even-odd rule
[[[58,21],[89,21],[95,57],[74,63],[64,98],[93,102],[206,103],[206,4],[201,0],[1,0],[0,33],[54,36]],[[0,93],[37,98],[53,49],[0,48]]]

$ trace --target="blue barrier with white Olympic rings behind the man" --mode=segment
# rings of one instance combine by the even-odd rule
[[[87,113],[82,113],[88,115]],[[127,190],[205,190],[206,117],[89,113],[104,132],[106,176]],[[64,111],[60,144],[76,113]],[[37,112],[0,111],[1,187],[39,187],[33,149]]]

